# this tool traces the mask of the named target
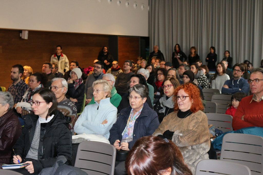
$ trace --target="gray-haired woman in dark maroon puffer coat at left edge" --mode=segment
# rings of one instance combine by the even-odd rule
[[[22,128],[18,117],[13,113],[14,99],[9,92],[0,91],[0,163],[9,164],[12,147]]]

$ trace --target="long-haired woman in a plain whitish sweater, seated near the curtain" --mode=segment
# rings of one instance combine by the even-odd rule
[[[215,75],[212,77],[212,89],[221,89],[225,84],[225,81],[229,80],[229,76],[226,74],[225,66],[222,62],[217,63]]]

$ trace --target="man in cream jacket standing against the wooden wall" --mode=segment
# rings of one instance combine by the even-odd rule
[[[58,72],[65,73],[69,70],[69,61],[65,54],[62,54],[62,47],[60,45],[56,46],[56,53],[51,56],[50,63],[58,64]],[[51,65],[52,67],[52,65]]]

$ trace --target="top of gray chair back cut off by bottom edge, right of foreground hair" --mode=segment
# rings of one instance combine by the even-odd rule
[[[251,175],[250,169],[239,163],[221,160],[203,159],[196,165],[195,175]]]

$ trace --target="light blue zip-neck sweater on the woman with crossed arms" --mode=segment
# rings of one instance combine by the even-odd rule
[[[107,119],[107,124],[101,124]],[[75,123],[74,131],[77,134],[99,134],[107,139],[110,129],[117,120],[117,108],[110,103],[110,98],[100,100],[98,104],[87,105]]]

